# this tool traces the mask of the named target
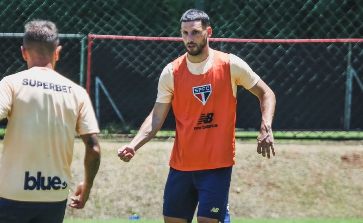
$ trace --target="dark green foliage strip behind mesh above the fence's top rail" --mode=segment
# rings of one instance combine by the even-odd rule
[[[23,32],[24,23],[56,22],[60,33],[179,37],[179,20],[190,8],[211,18],[213,37],[361,38],[360,1],[294,0],[3,0],[0,32]]]

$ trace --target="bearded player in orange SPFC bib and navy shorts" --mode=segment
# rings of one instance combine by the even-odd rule
[[[118,150],[118,156],[129,162],[155,136],[172,106],[176,135],[163,197],[164,222],[192,222],[199,203],[199,223],[227,223],[235,163],[237,85],[260,99],[257,153],[268,158],[270,150],[275,155],[271,128],[275,96],[242,59],[209,48],[212,28],[205,12],[190,9],[180,23],[187,52],[164,68],[153,110],[130,144]]]

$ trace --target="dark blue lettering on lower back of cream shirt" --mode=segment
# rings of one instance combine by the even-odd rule
[[[68,184],[66,181],[62,183],[62,180],[58,176],[48,176],[46,177],[42,176],[42,172],[37,172],[37,177],[35,176],[29,176],[29,171],[25,172],[25,179],[24,179],[24,190],[59,190],[59,189],[65,189]]]

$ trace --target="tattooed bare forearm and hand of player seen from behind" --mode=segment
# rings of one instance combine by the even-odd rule
[[[97,134],[84,134],[81,135],[83,143],[85,143],[86,153],[84,159],[85,166],[85,180],[78,184],[75,196],[80,196],[78,199],[70,197],[72,202],[70,207],[81,209],[85,206],[91,188],[93,185],[94,177],[98,171],[99,163],[101,160],[101,147],[99,146]]]

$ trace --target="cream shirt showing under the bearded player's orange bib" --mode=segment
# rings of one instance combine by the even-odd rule
[[[214,52],[212,49],[210,54],[204,61],[200,63],[191,63],[187,58],[187,66],[192,74],[200,75],[207,73],[213,64]],[[260,80],[260,77],[253,72],[248,64],[237,57],[236,55],[229,54],[229,66],[231,68],[231,82],[234,97],[237,94],[237,85],[242,85],[246,89],[250,89]],[[158,98],[156,102],[170,103],[174,98],[174,74],[171,63],[166,65],[163,69],[158,85]]]

